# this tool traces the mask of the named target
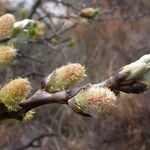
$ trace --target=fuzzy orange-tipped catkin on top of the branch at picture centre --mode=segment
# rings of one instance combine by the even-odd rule
[[[44,82],[44,89],[49,92],[67,90],[85,77],[84,66],[69,63],[53,71]]]

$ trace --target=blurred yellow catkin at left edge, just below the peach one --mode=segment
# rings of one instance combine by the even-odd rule
[[[9,45],[0,45],[0,69],[10,64],[16,56],[16,49]]]

